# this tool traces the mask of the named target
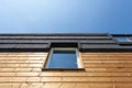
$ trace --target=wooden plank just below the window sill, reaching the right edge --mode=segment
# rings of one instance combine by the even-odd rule
[[[76,73],[76,72],[73,72],[73,73],[61,73],[61,72],[58,72],[58,73],[41,73],[40,74],[40,76],[50,76],[50,77],[52,77],[52,76],[61,76],[61,77],[65,77],[65,76],[67,76],[67,77],[94,77],[94,76],[101,76],[101,77],[105,77],[105,76],[108,76],[108,77],[114,77],[114,76],[117,76],[117,77],[122,77],[122,76],[132,76],[131,75],[131,73],[86,73],[86,72],[84,72],[84,73]]]

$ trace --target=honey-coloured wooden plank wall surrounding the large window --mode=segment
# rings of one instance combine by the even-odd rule
[[[81,53],[81,72],[42,72],[46,56],[0,53],[0,88],[132,88],[132,53]]]

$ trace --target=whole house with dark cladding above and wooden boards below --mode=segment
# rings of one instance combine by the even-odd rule
[[[132,34],[0,34],[0,88],[132,88]]]

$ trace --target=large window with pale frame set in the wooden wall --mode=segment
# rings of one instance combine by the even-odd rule
[[[77,48],[52,48],[46,68],[80,68]]]

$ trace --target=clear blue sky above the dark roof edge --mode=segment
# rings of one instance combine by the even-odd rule
[[[132,33],[132,0],[0,0],[0,33]]]

